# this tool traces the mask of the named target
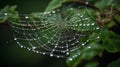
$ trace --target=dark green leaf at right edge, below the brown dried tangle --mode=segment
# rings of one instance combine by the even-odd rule
[[[104,29],[101,37],[105,50],[111,53],[120,51],[120,35]]]

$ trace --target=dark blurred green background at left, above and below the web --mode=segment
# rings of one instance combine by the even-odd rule
[[[0,9],[17,5],[19,13],[44,11],[50,0],[1,0]],[[43,56],[21,49],[14,41],[10,27],[0,24],[0,67],[66,67],[65,59]]]

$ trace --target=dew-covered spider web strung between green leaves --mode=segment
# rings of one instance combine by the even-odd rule
[[[82,4],[63,4],[49,12],[20,14],[11,20],[14,40],[21,48],[35,53],[64,58],[89,43],[100,31],[91,9]]]

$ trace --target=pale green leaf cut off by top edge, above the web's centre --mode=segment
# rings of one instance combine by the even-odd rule
[[[46,8],[45,11],[52,11],[55,8],[58,8],[62,5],[62,3],[66,2],[68,0],[52,0],[49,4],[48,7]]]

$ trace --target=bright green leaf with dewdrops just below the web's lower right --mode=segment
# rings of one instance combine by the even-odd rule
[[[76,67],[82,60],[91,60],[96,55],[102,52],[103,48],[97,43],[90,43],[82,48],[79,48],[70,53],[67,58],[67,64],[69,67]]]

